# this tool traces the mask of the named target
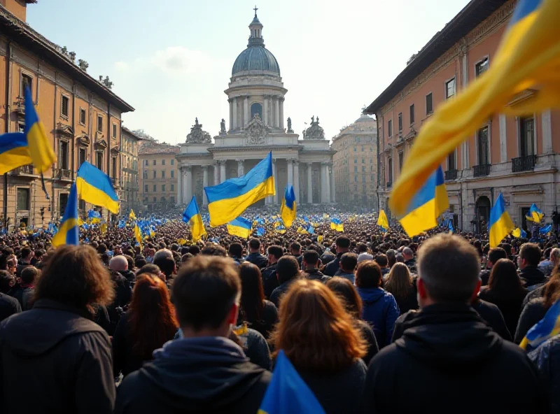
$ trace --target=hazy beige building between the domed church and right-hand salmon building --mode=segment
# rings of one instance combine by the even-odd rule
[[[377,210],[377,122],[368,115],[332,138],[337,199],[349,208]]]

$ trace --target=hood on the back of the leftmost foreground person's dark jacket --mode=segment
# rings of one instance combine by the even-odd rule
[[[15,355],[38,357],[69,336],[104,332],[89,317],[91,315],[86,310],[41,299],[31,310],[5,320],[0,325],[0,338]]]

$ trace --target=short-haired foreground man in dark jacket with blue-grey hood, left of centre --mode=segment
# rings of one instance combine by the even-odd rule
[[[172,290],[181,338],[123,380],[115,413],[256,413],[272,374],[228,338],[240,293],[230,259],[200,256],[183,265]]]

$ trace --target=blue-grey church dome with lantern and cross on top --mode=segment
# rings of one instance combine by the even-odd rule
[[[262,24],[257,17],[257,8],[255,8],[255,17],[249,24],[249,29],[251,29],[249,43],[247,48],[235,59],[232,76],[251,71],[267,71],[280,76],[280,66],[276,57],[265,48],[265,41],[262,38]]]

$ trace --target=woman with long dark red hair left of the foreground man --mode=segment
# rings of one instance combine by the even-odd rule
[[[146,273],[137,277],[128,310],[113,336],[113,373],[123,376],[140,369],[152,352],[171,341],[179,324],[167,286]]]

